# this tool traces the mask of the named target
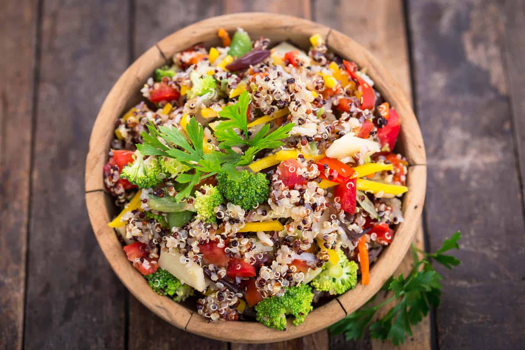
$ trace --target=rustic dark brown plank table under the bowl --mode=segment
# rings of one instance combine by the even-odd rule
[[[125,290],[92,234],[84,162],[112,84],[167,34],[253,10],[343,31],[413,99],[428,157],[416,244],[435,249],[457,229],[464,238],[461,266],[436,267],[442,306],[404,348],[523,348],[523,2],[7,0],[0,8],[0,348],[392,347],[327,331],[249,346],[178,330]]]

